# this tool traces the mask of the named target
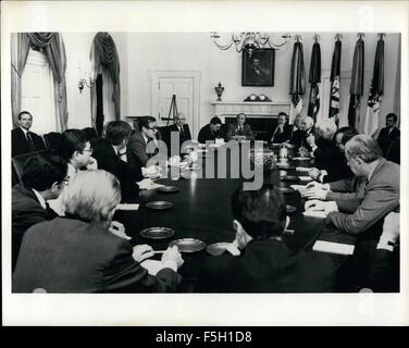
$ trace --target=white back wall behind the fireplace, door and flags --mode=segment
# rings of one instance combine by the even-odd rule
[[[301,34],[303,42],[303,58],[306,77],[310,67],[313,33]],[[241,87],[241,53],[233,48],[226,51],[218,49],[210,39],[209,33],[111,33],[120,55],[121,64],[121,114],[144,115],[151,113],[151,71],[199,71],[200,79],[200,125],[205,125],[214,110],[210,104],[216,99],[214,87],[219,82],[225,87],[222,99],[224,101],[240,101],[255,92],[265,94],[273,101],[289,101],[289,70],[293,42],[284,51],[275,54],[274,87]],[[321,66],[322,74],[331,71],[334,50],[335,33],[321,33]],[[354,49],[357,40],[356,33],[344,33],[342,65],[343,72],[350,72]],[[63,33],[65,42],[67,69],[67,102],[69,126],[86,127],[90,125],[89,88],[78,92],[78,62],[84,65],[89,60],[89,51],[95,33]],[[281,41],[281,34],[271,34],[273,42]],[[374,54],[376,49],[376,34],[364,36],[364,95],[361,99],[361,114],[364,115],[369,87],[373,74]],[[386,113],[396,112],[399,115],[400,70],[398,57],[400,37],[387,34],[385,40],[385,87],[381,104],[381,125],[384,124]],[[340,90],[342,98],[349,101],[349,84]],[[303,98],[307,113],[309,84]],[[363,122],[363,116],[361,117]]]

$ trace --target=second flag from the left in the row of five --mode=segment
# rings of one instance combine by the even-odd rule
[[[320,87],[321,82],[321,48],[318,44],[318,36],[314,37],[315,42],[312,45],[311,63],[309,83],[311,84],[310,101],[308,103],[308,115],[317,122],[317,114],[320,111]]]

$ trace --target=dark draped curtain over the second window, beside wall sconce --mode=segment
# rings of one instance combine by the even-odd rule
[[[112,101],[115,107],[115,119],[121,119],[121,89],[120,89],[120,58],[116,46],[109,33],[97,33],[94,38],[90,60],[94,64],[94,74],[97,77],[107,69],[113,82]],[[96,86],[91,90],[92,125],[97,119],[97,92]]]

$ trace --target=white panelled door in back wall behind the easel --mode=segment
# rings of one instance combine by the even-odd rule
[[[158,125],[165,126],[171,111],[172,96],[176,96],[178,112],[186,115],[193,137],[196,137],[199,123],[199,73],[196,72],[152,72],[152,115]],[[169,125],[173,121],[169,121]]]

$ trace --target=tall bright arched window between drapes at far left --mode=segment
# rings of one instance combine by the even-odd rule
[[[45,134],[61,129],[57,115],[54,78],[42,52],[29,50],[22,76],[21,108],[33,115],[33,132]]]

